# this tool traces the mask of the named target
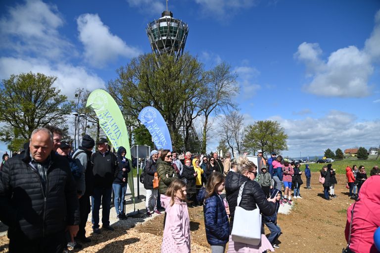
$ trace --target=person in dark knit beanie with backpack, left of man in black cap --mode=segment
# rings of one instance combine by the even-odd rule
[[[95,146],[95,141],[89,135],[85,134],[82,137],[82,146],[74,151],[72,158],[75,162],[83,167],[85,173],[85,192],[82,198],[79,199],[79,209],[81,220],[79,223],[79,231],[76,239],[83,243],[91,242],[90,238],[86,237],[86,223],[89,218],[89,213],[91,211],[90,196],[93,194],[94,188],[94,175],[93,175],[93,164],[91,163],[91,154]]]

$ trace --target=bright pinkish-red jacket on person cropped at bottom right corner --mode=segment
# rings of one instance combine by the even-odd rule
[[[368,178],[360,188],[359,199],[354,207],[350,249],[355,253],[379,253],[374,243],[375,230],[380,226],[380,175]],[[346,241],[351,223],[351,210],[347,209],[347,223],[344,231]]]

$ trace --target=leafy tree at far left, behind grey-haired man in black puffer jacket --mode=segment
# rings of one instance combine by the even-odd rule
[[[64,125],[72,104],[53,87],[57,78],[32,72],[11,75],[0,88],[0,121],[15,138],[29,139],[33,130],[45,125]]]

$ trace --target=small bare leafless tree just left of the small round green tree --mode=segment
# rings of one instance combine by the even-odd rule
[[[242,139],[244,136],[244,116],[239,114],[238,111],[228,113],[222,119],[222,132],[221,137],[226,140],[227,145],[231,148],[232,153],[234,149],[241,153]]]

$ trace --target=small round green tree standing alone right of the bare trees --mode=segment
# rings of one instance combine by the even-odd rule
[[[272,151],[280,153],[287,150],[286,140],[285,129],[279,122],[259,120],[245,128],[243,143],[251,153],[262,150],[264,154],[269,154]]]

